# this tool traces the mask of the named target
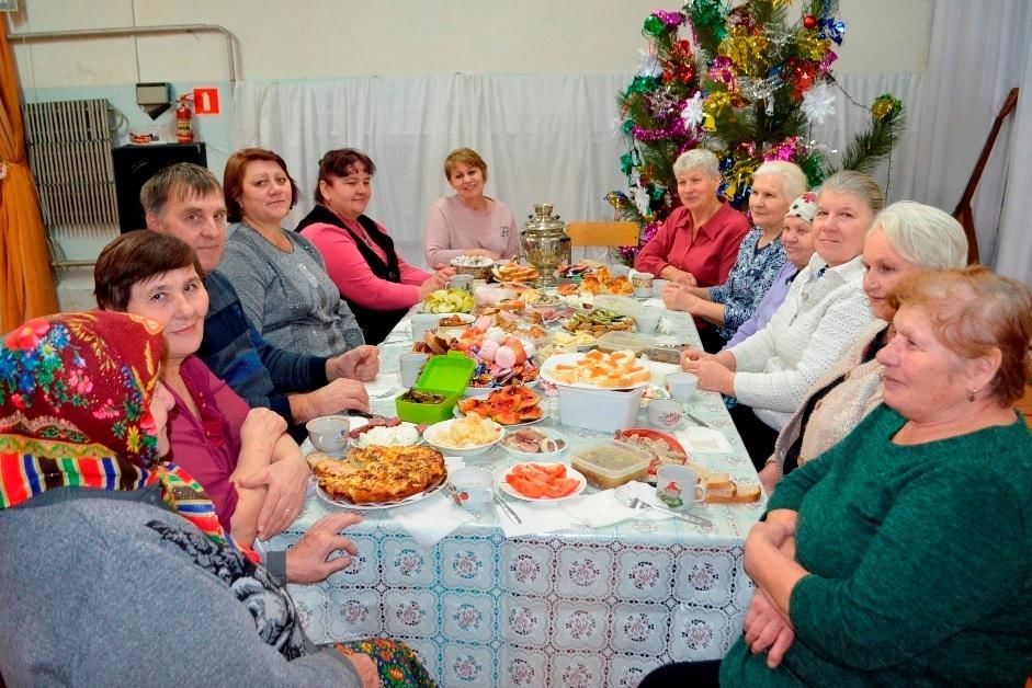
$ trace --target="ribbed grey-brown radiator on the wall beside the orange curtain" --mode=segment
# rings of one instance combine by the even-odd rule
[[[106,100],[25,105],[29,165],[49,230],[102,230],[118,225]]]

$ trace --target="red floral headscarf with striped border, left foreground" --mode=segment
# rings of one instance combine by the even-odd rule
[[[231,543],[201,485],[158,457],[150,401],[161,347],[157,322],[110,311],[37,318],[8,334],[0,344],[0,509],[57,488],[160,483],[170,508]]]

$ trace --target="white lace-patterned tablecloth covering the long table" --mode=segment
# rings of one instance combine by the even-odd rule
[[[689,317],[665,318],[698,342]],[[384,372],[396,372],[398,354],[411,346],[409,328],[406,318],[382,345]],[[692,413],[721,429],[733,452],[692,461],[756,482],[719,394],[694,399]],[[393,398],[374,400],[372,410],[395,415]],[[557,404],[553,411],[544,423],[574,446],[608,436],[560,426]],[[644,412],[639,422],[647,426]],[[496,447],[476,465],[509,461]],[[330,508],[309,498],[271,547],[290,547]],[[359,548],[355,563],[320,585],[291,586],[291,595],[316,642],[404,640],[442,686],[636,686],[668,662],[719,658],[741,633],[753,593],[742,542],[761,512],[762,502],[704,505],[696,513],[712,528],[640,519],[512,539],[488,513],[432,549],[393,511],[364,512],[348,532]]]

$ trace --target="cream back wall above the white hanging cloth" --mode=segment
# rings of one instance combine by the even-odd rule
[[[840,0],[848,30],[838,50],[837,73],[923,71],[931,2]],[[237,79],[251,83],[454,72],[630,78],[637,69],[638,49],[646,45],[642,23],[662,7],[656,0],[21,0],[20,4],[21,10],[10,16],[13,34],[223,25],[236,38]],[[678,9],[678,3],[668,9]],[[144,115],[135,104],[137,81],[168,81],[175,93],[200,85],[219,88],[224,113],[195,117],[195,128],[207,144],[208,165],[222,174],[234,149],[233,100],[226,45],[217,34],[26,44],[15,38],[13,45],[27,101],[106,98],[126,118],[118,129],[120,142],[129,130],[156,130],[171,139],[171,112],[156,122]],[[610,105],[611,101],[605,103]],[[617,147],[614,141],[612,167],[619,181]],[[553,163],[542,161],[542,165]],[[424,213],[423,198],[399,200],[413,206],[411,216]],[[519,216],[525,208],[514,210]],[[104,236],[81,232],[56,234],[69,259],[91,259],[106,241]]]

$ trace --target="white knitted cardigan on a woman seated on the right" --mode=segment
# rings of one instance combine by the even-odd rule
[[[825,264],[815,253],[767,326],[728,349],[735,395],[774,429],[784,427],[807,390],[874,320],[860,256],[818,277]]]

